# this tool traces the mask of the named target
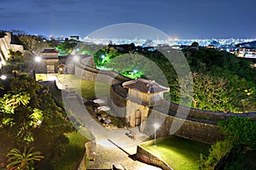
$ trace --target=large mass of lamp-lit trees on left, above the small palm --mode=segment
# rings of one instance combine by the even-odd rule
[[[19,75],[6,81],[0,94],[3,94],[0,139],[7,138],[0,140],[0,145],[11,149],[29,144],[45,157],[44,163],[38,162],[41,166],[57,161],[68,143],[64,133],[73,128],[48,89],[38,85],[32,77]],[[10,139],[13,141],[9,142]],[[6,151],[9,150],[0,152],[0,160]]]

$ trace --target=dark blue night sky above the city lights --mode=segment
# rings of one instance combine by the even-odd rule
[[[178,38],[256,38],[255,0],[0,0],[0,30],[85,37],[139,23]]]

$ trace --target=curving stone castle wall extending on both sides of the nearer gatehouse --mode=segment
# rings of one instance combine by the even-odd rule
[[[127,77],[123,77],[114,71],[99,71],[86,65],[75,65],[75,75],[81,79],[107,82],[112,84],[110,89],[111,101],[108,105],[119,116],[126,114],[126,97],[127,90],[121,86],[121,82],[129,81]],[[164,105],[164,107],[162,107]],[[143,122],[141,130],[143,133],[152,137],[154,132],[154,121],[162,120],[160,128],[157,130],[157,137],[165,137],[170,134],[177,135],[186,139],[193,139],[196,141],[215,143],[218,139],[222,139],[223,135],[218,129],[218,121],[224,121],[231,113],[218,113],[214,111],[201,111],[194,108],[177,105],[169,101],[162,101],[162,105],[156,105],[150,108],[149,119]],[[165,108],[169,108],[166,109]],[[179,114],[177,114],[179,111]],[[188,115],[186,114],[188,112]],[[184,117],[185,116],[185,117]],[[255,119],[255,113],[237,114],[236,116],[244,116]],[[172,127],[175,124],[182,123],[180,128]],[[172,129],[170,131],[170,129]],[[176,131],[177,130],[177,131]]]

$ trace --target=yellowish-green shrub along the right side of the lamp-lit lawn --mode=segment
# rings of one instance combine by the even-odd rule
[[[223,158],[232,148],[230,141],[218,141],[211,146],[208,156],[200,155],[201,167],[200,169],[214,170],[218,161]]]

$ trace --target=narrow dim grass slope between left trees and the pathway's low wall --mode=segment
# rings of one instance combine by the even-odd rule
[[[83,159],[84,144],[88,139],[77,132],[67,134],[67,138],[69,144],[66,145],[64,156],[55,164],[55,170],[78,169],[80,161]]]

